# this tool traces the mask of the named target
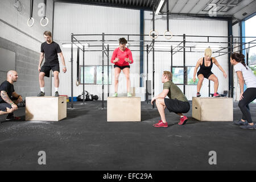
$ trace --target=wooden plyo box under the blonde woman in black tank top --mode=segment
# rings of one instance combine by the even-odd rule
[[[192,117],[199,121],[233,121],[233,98],[193,97]]]

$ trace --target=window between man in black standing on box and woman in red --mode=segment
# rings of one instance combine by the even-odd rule
[[[83,71],[84,81],[87,85],[101,85],[102,84],[102,65],[85,66],[84,69],[80,65],[80,78],[79,84],[83,84]],[[104,66],[104,84],[108,84],[108,66]],[[112,84],[112,66],[109,66],[109,84]]]

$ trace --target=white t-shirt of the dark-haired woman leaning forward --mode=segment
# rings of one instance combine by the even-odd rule
[[[246,69],[247,68],[247,69]],[[253,74],[251,69],[246,65],[245,66],[242,63],[238,63],[234,65],[234,71],[241,71],[243,74],[243,80],[245,80],[245,85],[247,88],[256,88],[256,76]]]

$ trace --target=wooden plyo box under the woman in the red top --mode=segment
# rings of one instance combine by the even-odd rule
[[[141,121],[141,97],[108,97],[107,121]]]

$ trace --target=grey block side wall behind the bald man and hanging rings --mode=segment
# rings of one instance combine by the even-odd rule
[[[15,91],[26,96],[36,96],[40,92],[38,81],[38,63],[40,46],[45,41],[43,32],[52,31],[53,0],[47,1],[46,16],[49,23],[46,27],[40,25],[40,3],[35,0],[33,7],[33,18],[35,24],[27,26],[30,18],[30,1],[20,0],[25,9],[20,14],[13,6],[15,0],[0,1],[0,47],[15,52],[15,69],[18,72],[18,82],[14,84]],[[6,60],[8,61],[8,60]],[[0,71],[0,82],[6,80],[6,72]],[[51,78],[45,78],[45,90],[51,96]]]

